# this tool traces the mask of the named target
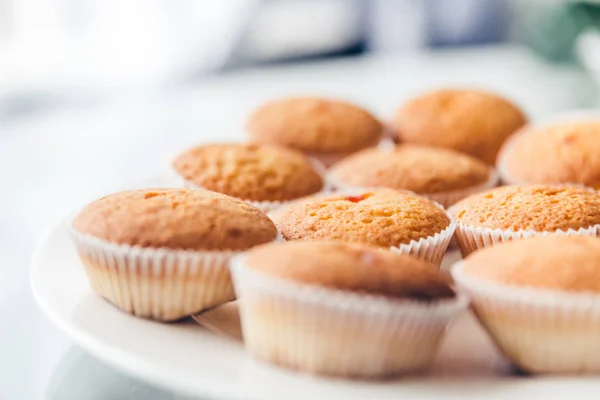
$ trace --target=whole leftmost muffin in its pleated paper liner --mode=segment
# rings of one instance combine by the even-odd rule
[[[275,240],[277,229],[223,194],[147,189],[88,204],[71,237],[96,292],[125,312],[170,321],[233,300],[229,258]]]

